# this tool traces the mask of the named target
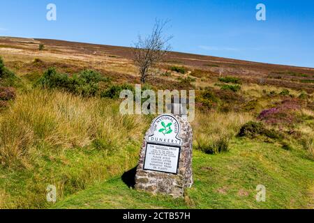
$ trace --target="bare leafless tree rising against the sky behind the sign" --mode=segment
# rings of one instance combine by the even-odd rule
[[[137,43],[134,44],[133,61],[139,69],[142,83],[147,81],[147,77],[152,75],[152,68],[162,61],[171,49],[168,42],[172,36],[167,37],[163,33],[167,23],[168,21],[156,20],[152,33],[144,39],[138,36]]]

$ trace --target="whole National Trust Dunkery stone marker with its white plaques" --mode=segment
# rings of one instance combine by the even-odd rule
[[[181,197],[193,184],[190,123],[180,116],[158,116],[144,137],[135,188]]]

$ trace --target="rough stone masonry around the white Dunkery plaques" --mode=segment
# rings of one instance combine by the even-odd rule
[[[144,159],[147,147],[147,139],[152,133],[151,128],[147,131],[140,152],[140,161],[135,176],[135,189],[144,190],[153,194],[169,194],[172,197],[183,197],[184,190],[193,185],[192,173],[192,143],[193,132],[190,123],[180,116],[175,116],[181,125],[181,152],[179,154],[178,174],[168,174],[158,171],[144,170]],[[154,121],[153,121],[154,123]],[[153,124],[151,124],[153,125]]]

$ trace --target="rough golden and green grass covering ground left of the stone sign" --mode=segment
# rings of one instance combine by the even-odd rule
[[[122,174],[137,162],[144,127],[111,100],[21,93],[0,118],[0,208],[45,208],[47,185],[66,197]]]

